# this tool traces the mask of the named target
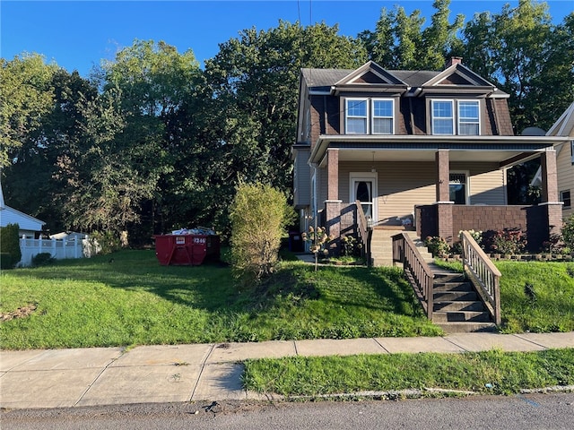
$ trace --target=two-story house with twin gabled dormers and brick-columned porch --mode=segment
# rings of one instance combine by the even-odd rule
[[[335,253],[336,237],[364,231],[361,211],[375,230],[451,243],[462,229],[522,228],[539,248],[560,228],[553,145],[563,138],[514,135],[509,95],[460,58],[441,72],[303,69],[299,90],[294,206],[302,230],[317,219],[335,237]],[[509,206],[506,170],[534,157],[543,203]]]

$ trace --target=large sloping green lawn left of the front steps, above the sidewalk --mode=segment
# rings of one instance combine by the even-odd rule
[[[110,262],[113,258],[113,262]],[[230,268],[161,266],[153,251],[3,271],[2,348],[79,348],[222,341],[438,335],[396,268],[283,262],[238,290]]]

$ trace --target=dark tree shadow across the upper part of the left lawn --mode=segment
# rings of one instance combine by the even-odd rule
[[[411,287],[396,269],[364,267],[284,268],[253,288],[240,289],[222,262],[200,266],[161,266],[153,251],[122,251],[91,259],[13,271],[18,276],[98,282],[109,288],[146,291],[178,305],[212,313],[258,313],[291,297],[298,304],[321,300],[337,307],[417,316]]]

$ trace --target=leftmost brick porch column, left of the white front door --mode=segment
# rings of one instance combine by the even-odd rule
[[[326,231],[335,240],[330,244],[330,252],[338,254],[341,235],[341,200],[339,200],[339,150],[326,150]]]

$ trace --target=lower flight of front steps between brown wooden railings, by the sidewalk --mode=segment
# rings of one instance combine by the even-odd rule
[[[432,323],[444,331],[492,331],[496,328],[491,314],[478,297],[473,284],[461,273],[440,272],[432,268]]]

